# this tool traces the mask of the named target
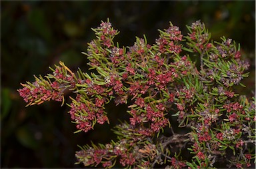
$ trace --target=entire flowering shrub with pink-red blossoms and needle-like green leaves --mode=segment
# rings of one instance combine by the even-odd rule
[[[113,42],[119,32],[102,22],[83,53],[91,74],[73,73],[60,62],[45,78],[21,84],[19,94],[28,106],[63,104],[65,90],[73,91],[67,105],[77,132],[109,123],[109,102],[127,104],[130,118],[115,127],[115,140],[76,153],[84,166],[249,168],[255,158],[255,99],[234,89],[244,86],[249,64],[231,39],[211,41],[200,21],[187,29],[184,36],[170,23],[153,45],[144,36],[132,47],[119,47]]]

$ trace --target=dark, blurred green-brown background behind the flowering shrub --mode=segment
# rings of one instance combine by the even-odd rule
[[[74,164],[77,144],[113,139],[110,128],[122,118],[122,106],[109,106],[111,125],[73,134],[68,106],[45,102],[25,108],[17,93],[20,83],[50,73],[48,67],[59,61],[87,71],[81,52],[95,38],[91,27],[107,18],[121,31],[115,39],[121,46],[143,34],[154,43],[157,29],[167,29],[169,21],[185,32],[185,25],[201,19],[214,40],[225,36],[241,43],[251,63],[241,90],[254,94],[255,1],[1,1],[1,168],[83,168]]]

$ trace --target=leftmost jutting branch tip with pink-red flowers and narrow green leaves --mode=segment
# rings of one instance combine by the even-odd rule
[[[65,90],[69,86],[75,87],[76,83],[82,83],[81,79],[75,81],[73,73],[63,63],[60,62],[60,65],[61,67],[56,66],[53,75],[47,77],[48,81],[42,77],[36,77],[37,81],[34,83],[21,84],[23,88],[17,91],[25,102],[29,102],[28,105],[41,104],[48,100],[63,102]],[[53,79],[53,81],[51,82],[49,79]]]

